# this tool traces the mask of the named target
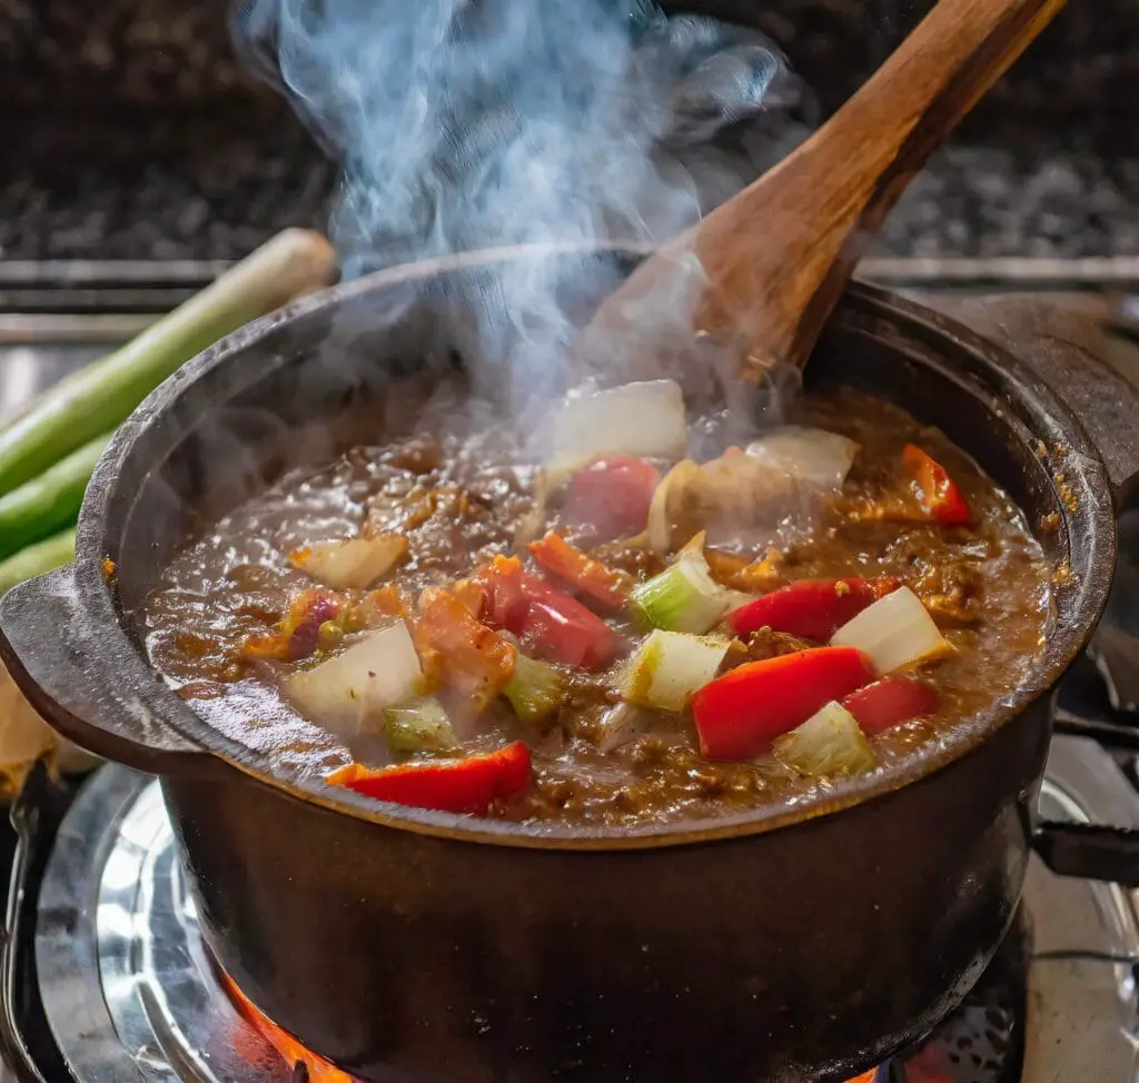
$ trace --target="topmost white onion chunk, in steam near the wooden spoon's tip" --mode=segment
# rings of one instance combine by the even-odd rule
[[[567,399],[554,418],[550,465],[556,471],[597,456],[682,459],[687,452],[685,396],[673,380],[624,384]]]

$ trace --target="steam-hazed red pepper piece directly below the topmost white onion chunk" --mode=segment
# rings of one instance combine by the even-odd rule
[[[661,474],[644,459],[628,456],[595,459],[566,490],[565,517],[585,527],[596,541],[630,538],[645,530]]]

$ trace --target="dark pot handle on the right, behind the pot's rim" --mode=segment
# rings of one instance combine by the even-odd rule
[[[1047,297],[998,294],[927,303],[1031,367],[1083,425],[1123,508],[1139,497],[1139,389],[1101,360],[1105,320]]]

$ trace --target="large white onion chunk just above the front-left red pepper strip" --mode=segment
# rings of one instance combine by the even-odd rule
[[[285,682],[286,698],[306,719],[342,737],[384,729],[384,709],[419,694],[423,667],[402,621]]]

